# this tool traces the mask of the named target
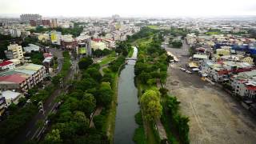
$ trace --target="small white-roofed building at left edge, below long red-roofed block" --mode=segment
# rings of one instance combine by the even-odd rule
[[[6,99],[6,107],[8,107],[11,103],[17,105],[19,98],[24,97],[24,95],[22,93],[6,90],[2,91],[2,97]]]

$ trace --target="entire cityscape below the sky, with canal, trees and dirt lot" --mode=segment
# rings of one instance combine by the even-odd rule
[[[0,143],[256,142],[256,18],[0,18]]]

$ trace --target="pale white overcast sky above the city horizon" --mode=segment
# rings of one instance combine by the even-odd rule
[[[0,0],[0,14],[42,16],[256,15],[256,0]]]

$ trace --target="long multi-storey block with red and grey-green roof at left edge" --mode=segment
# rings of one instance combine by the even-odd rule
[[[26,63],[13,70],[0,73],[0,90],[27,92],[27,90],[42,82],[45,74],[45,66]]]

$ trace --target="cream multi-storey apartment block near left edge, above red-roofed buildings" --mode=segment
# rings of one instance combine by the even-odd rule
[[[5,50],[6,58],[8,59],[23,59],[23,51],[22,46],[18,46],[18,44],[10,44],[8,46],[8,50]]]

